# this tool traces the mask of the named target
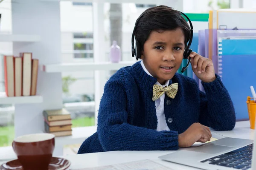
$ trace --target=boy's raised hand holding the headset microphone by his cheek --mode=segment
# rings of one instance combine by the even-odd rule
[[[213,63],[211,59],[205,58],[192,51],[191,57],[192,70],[202,82],[212,82],[216,79]]]

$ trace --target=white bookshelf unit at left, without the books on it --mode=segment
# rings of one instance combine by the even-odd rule
[[[12,3],[12,34],[0,34],[0,41],[13,42],[14,56],[31,52],[40,64],[61,63],[60,3],[40,0]],[[15,137],[42,132],[43,111],[63,108],[61,86],[61,73],[38,70],[37,94],[40,96],[3,98],[4,102],[15,104]],[[60,155],[61,150],[56,150],[54,156]]]

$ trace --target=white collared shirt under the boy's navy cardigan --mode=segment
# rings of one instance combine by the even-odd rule
[[[140,62],[143,70],[150,76],[152,76],[148,70],[145,68],[145,65],[143,63],[143,60]],[[153,76],[152,76],[153,77]],[[165,82],[164,85],[161,85],[159,82],[156,82],[155,84],[156,85],[161,85],[163,87],[166,87],[169,85],[169,81],[170,80],[167,80]],[[152,92],[153,93],[153,92]],[[165,118],[165,114],[164,114],[164,110],[163,110],[163,106],[164,106],[164,97],[165,97],[165,94],[163,94],[159,99],[157,99],[155,101],[155,106],[156,106],[156,112],[157,112],[157,131],[162,131],[162,130],[170,130],[169,127],[167,126],[167,123],[166,123],[166,118]]]

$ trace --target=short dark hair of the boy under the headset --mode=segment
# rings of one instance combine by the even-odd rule
[[[181,28],[185,36],[185,46],[190,39],[191,31],[188,23],[179,11],[168,6],[155,6],[146,9],[137,23],[135,38],[143,50],[143,45],[151,31],[175,30]],[[136,21],[136,22],[137,22]]]

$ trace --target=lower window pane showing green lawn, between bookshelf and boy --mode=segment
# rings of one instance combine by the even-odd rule
[[[93,71],[62,73],[62,99],[71,113],[72,127],[95,125],[93,76]]]

